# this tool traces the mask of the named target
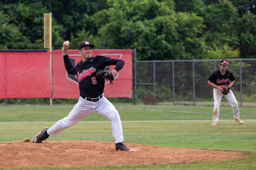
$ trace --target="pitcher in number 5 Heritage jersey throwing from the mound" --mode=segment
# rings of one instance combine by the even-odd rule
[[[64,64],[68,74],[78,76],[80,98],[67,117],[56,122],[51,128],[44,128],[33,138],[33,143],[40,143],[49,136],[57,136],[63,130],[73,126],[87,115],[96,112],[111,121],[112,134],[115,138],[115,149],[130,151],[130,148],[123,145],[124,138],[120,115],[113,104],[104,97],[105,80],[96,76],[98,70],[104,69],[106,66],[116,65],[112,70],[114,76],[123,68],[124,61],[104,56],[91,57],[94,45],[85,41],[81,42],[78,47],[82,60],[73,67],[67,53],[71,44],[69,41],[68,43],[66,44],[64,42],[62,44]]]

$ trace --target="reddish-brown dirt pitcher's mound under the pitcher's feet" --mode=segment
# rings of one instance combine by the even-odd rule
[[[242,158],[233,151],[171,148],[124,143],[133,151],[115,151],[114,142],[43,141],[0,143],[0,168],[148,165]]]

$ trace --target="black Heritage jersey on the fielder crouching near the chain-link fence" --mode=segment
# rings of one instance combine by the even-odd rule
[[[208,80],[216,84],[217,86],[221,86],[221,85],[229,85],[229,80],[232,82],[235,80],[235,78],[233,73],[230,70],[227,69],[225,74],[222,75],[220,73],[220,69],[218,69],[211,74]]]

